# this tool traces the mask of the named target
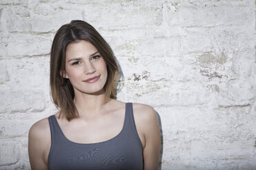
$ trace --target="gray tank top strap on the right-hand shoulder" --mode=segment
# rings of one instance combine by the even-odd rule
[[[129,132],[131,136],[134,136],[136,138],[136,140],[138,141],[138,143],[140,143],[142,147],[140,136],[138,135],[136,124],[134,121],[134,109],[132,103],[126,103],[125,106],[125,129]]]

